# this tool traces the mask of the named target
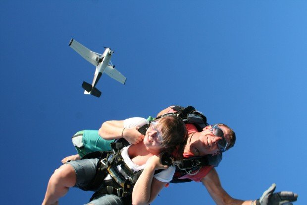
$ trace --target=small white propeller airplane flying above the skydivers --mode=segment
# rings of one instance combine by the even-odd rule
[[[95,86],[102,76],[102,73],[105,72],[111,78],[117,80],[118,82],[125,84],[126,77],[122,75],[115,69],[115,66],[111,63],[111,57],[114,51],[111,51],[110,48],[105,48],[103,54],[95,53],[74,39],[71,39],[69,46],[80,54],[85,60],[96,66],[96,71],[94,74],[94,79],[92,84],[83,81],[82,87],[85,89],[84,94],[91,94],[96,97],[100,97],[102,92],[98,90]]]

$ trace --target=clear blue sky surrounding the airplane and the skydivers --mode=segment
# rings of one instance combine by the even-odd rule
[[[237,199],[272,183],[306,205],[307,2],[303,0],[0,2],[1,203],[37,205],[71,136],[106,120],[148,117],[179,104],[237,134],[217,172]],[[126,85],[95,67],[71,38],[102,53]],[[88,202],[71,189],[61,205]],[[171,184],[153,205],[214,202],[200,183]]]

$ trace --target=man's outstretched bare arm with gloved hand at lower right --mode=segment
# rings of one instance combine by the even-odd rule
[[[273,193],[276,187],[273,184],[263,193],[260,200],[242,201],[234,199],[222,188],[218,174],[214,168],[202,179],[202,183],[217,205],[284,205],[289,202],[294,202],[298,198],[298,195],[293,192],[283,191]]]

